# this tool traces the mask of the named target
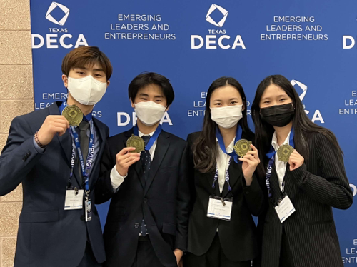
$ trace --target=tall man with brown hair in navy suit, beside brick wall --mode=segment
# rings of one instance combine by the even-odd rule
[[[22,183],[14,267],[99,267],[106,260],[94,201],[109,129],[91,113],[111,72],[98,47],[70,51],[62,61],[68,99],[11,123],[0,156],[0,196]]]

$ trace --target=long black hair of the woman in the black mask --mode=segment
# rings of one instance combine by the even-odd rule
[[[307,140],[311,133],[322,133],[333,143],[334,146],[336,146],[336,150],[342,155],[342,150],[332,131],[318,126],[308,119],[308,116],[306,116],[306,113],[303,110],[303,104],[301,103],[300,97],[291,85],[290,81],[281,75],[271,75],[266,77],[266,79],[263,79],[261,84],[259,84],[258,89],[256,89],[256,96],[251,106],[252,119],[256,129],[256,148],[258,149],[259,158],[261,158],[261,163],[258,166],[259,176],[265,175],[265,168],[268,164],[266,153],[268,153],[271,148],[271,139],[273,138],[274,133],[273,126],[261,119],[261,109],[259,104],[261,102],[261,96],[263,96],[264,91],[271,84],[275,84],[283,89],[283,91],[285,91],[293,101],[293,107],[295,109],[295,114],[293,116],[294,145],[296,151],[303,156],[305,161],[308,161],[309,148]]]

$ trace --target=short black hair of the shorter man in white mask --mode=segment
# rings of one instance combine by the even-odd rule
[[[136,94],[138,94],[139,89],[150,84],[156,84],[161,87],[161,90],[166,97],[167,106],[170,106],[175,98],[174,89],[172,88],[169,79],[161,74],[156,74],[155,72],[144,72],[131,81],[129,84],[129,98],[131,101],[134,103],[134,99]]]

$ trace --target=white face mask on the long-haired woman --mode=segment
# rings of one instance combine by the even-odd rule
[[[225,129],[230,129],[242,118],[242,108],[243,105],[210,108],[212,121]]]

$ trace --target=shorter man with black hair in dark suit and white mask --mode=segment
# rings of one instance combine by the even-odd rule
[[[112,198],[106,266],[174,267],[186,251],[190,198],[186,141],[160,124],[174,90],[164,76],[144,73],[131,81],[129,98],[136,126],[109,138],[101,161],[106,190],[96,200]]]

